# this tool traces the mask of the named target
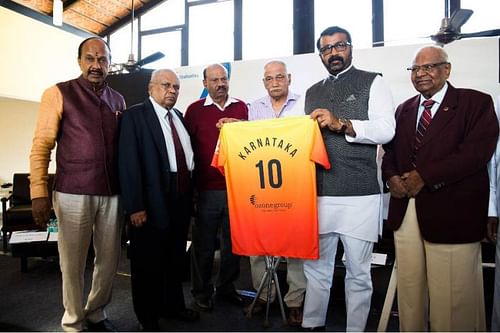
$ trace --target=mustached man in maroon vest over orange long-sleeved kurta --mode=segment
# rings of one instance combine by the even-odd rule
[[[104,81],[110,60],[109,47],[102,39],[91,37],[80,44],[82,74],[44,92],[31,148],[33,219],[45,226],[50,214],[48,166],[57,142],[53,204],[59,223],[65,309],[61,325],[65,331],[116,330],[104,308],[111,300],[120,257],[123,218],[117,139],[125,101]],[[94,272],[84,306],[84,272],[91,241]]]

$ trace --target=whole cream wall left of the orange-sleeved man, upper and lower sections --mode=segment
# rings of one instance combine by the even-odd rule
[[[82,40],[0,7],[0,184],[28,172],[38,101],[47,87],[80,74]]]

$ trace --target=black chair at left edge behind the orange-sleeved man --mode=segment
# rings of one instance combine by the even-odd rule
[[[31,197],[29,173],[15,173],[12,183],[12,193],[2,198],[2,237],[3,250],[8,250],[8,240],[13,231],[34,230],[39,226],[31,215]],[[49,199],[52,200],[52,185],[54,174],[49,174]],[[9,203],[7,205],[7,203]],[[54,212],[52,212],[54,217]]]

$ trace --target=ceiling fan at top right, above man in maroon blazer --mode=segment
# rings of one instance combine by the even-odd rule
[[[431,35],[431,39],[437,44],[444,45],[463,38],[500,36],[500,29],[460,33],[460,28],[467,22],[472,13],[473,11],[470,9],[460,8],[454,11],[451,17],[444,17],[439,31],[435,35]]]

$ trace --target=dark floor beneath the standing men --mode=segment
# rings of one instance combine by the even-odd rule
[[[137,320],[132,309],[130,293],[129,263],[122,252],[118,273],[115,278],[114,293],[107,308],[108,316],[120,331],[137,331]],[[368,318],[367,331],[376,331],[392,270],[391,254],[389,265],[374,266],[372,277],[374,293],[372,308]],[[217,260],[216,260],[217,263]],[[327,317],[327,331],[345,331],[345,301],[343,290],[344,269],[336,269],[334,288],[330,295]],[[175,268],[172,268],[175,269]],[[487,312],[491,312],[491,286],[494,269],[485,269],[485,294]],[[88,263],[86,281],[90,280],[91,262]],[[283,291],[286,291],[285,271],[280,269],[278,277]],[[87,283],[88,285],[88,283]],[[237,288],[252,291],[249,262],[247,257],[241,260],[241,275]],[[190,282],[185,281],[184,291],[188,304],[192,302]],[[251,299],[247,298],[247,302]],[[20,271],[20,259],[9,253],[0,253],[0,331],[60,331],[60,318],[63,313],[61,304],[61,277],[57,257],[30,258],[28,270]],[[271,305],[269,327],[263,326],[263,315],[247,318],[242,308],[218,303],[210,313],[201,313],[201,320],[196,323],[162,322],[167,331],[297,331],[281,321],[279,306]],[[488,313],[489,315],[489,313]],[[489,320],[489,317],[488,317]],[[396,306],[393,306],[387,331],[398,331]]]

